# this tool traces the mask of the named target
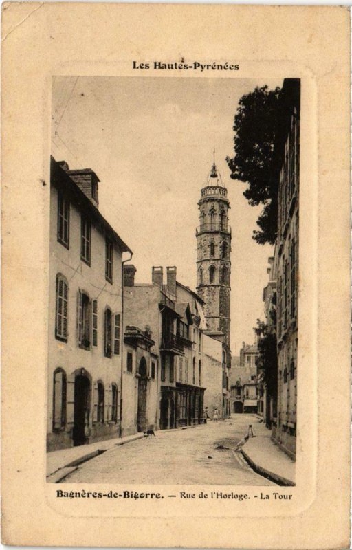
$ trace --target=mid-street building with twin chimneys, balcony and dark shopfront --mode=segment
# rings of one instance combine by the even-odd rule
[[[152,282],[135,283],[135,268],[124,266],[126,325],[147,327],[155,358],[153,429],[203,423],[203,300],[176,279],[175,266],[152,269]]]

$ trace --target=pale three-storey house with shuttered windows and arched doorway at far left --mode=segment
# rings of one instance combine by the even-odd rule
[[[47,450],[121,430],[122,254],[98,176],[52,159]]]

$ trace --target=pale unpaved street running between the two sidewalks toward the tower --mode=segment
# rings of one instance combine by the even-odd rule
[[[137,439],[87,461],[61,483],[155,483],[202,485],[275,485],[256,474],[241,452],[233,452],[253,415],[233,415],[204,426]],[[224,448],[217,449],[222,445]]]

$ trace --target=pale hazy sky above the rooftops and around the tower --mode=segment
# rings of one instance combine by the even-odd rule
[[[249,206],[246,184],[230,179],[239,98],[282,80],[182,77],[55,76],[52,155],[100,179],[99,210],[133,250],[135,282],[150,283],[152,265],[177,266],[195,289],[197,202],[215,160],[228,189],[232,228],[231,349],[254,342],[264,318],[270,245],[252,239],[262,207]]]

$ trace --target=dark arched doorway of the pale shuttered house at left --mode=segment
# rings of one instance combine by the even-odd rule
[[[74,381],[74,446],[87,443],[86,427],[89,427],[90,382],[86,376],[76,376]]]

